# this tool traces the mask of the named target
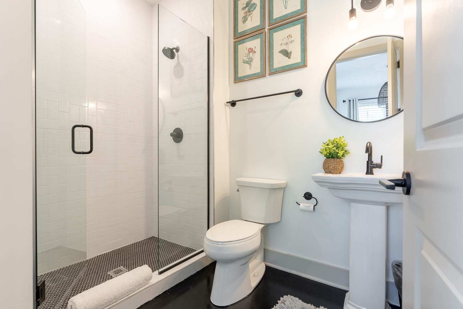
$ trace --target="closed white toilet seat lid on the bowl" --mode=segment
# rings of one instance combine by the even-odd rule
[[[214,225],[206,232],[207,242],[214,245],[234,245],[257,237],[261,226],[243,220],[230,220]]]

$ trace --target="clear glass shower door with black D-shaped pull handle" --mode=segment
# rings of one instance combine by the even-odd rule
[[[37,276],[46,284],[43,309],[62,305],[87,259],[85,42],[79,0],[36,1]],[[71,150],[74,125],[79,154]]]

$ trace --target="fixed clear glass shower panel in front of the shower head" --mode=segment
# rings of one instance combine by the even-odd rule
[[[158,7],[158,255],[202,250],[208,226],[208,37]]]

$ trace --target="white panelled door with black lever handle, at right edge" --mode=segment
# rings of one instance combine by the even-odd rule
[[[403,308],[463,308],[463,1],[405,0]]]

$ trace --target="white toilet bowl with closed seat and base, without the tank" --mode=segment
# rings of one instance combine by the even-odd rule
[[[265,271],[263,235],[265,224],[231,220],[211,227],[204,237],[204,252],[217,261],[211,302],[228,306],[246,297]]]

